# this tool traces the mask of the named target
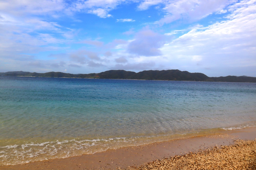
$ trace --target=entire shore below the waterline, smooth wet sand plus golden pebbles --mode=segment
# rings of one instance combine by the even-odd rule
[[[252,127],[228,130],[223,134],[125,147],[70,158],[0,166],[0,169],[193,169],[193,164],[194,169],[205,169],[200,168],[200,165],[209,164],[209,159],[206,159],[209,155],[211,158],[220,158],[210,159],[213,165],[219,165],[222,162],[223,167],[228,167],[228,163],[223,162],[223,160],[231,160],[228,156],[241,155],[244,158],[247,156],[248,161],[252,161],[247,168],[250,169],[250,167],[255,168],[256,165],[255,140],[256,127]],[[250,149],[252,152],[249,152]],[[246,160],[240,160],[238,157],[233,159],[235,162],[232,166],[236,165],[233,169],[245,167],[242,163]],[[180,162],[175,163],[175,161]],[[223,169],[223,167],[212,166],[213,169]]]

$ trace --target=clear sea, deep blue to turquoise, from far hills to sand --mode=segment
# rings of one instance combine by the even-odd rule
[[[256,126],[256,83],[0,76],[0,165]]]

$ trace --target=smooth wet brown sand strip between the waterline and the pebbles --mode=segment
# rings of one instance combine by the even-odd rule
[[[235,140],[255,140],[256,127],[226,130],[221,134],[156,142],[136,147],[112,149],[94,154],[84,154],[69,158],[30,162],[19,165],[4,165],[0,169],[131,169],[154,160],[162,160],[175,155],[196,153],[208,148],[234,145]],[[132,168],[133,169],[133,168]]]

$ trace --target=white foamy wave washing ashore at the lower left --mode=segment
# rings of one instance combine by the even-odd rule
[[[0,147],[0,164],[14,165],[33,161],[41,161],[55,158],[67,158],[70,156],[92,154],[108,149],[117,149],[132,145],[135,139],[116,137],[107,139],[72,139],[63,141],[48,141],[42,143],[25,143]],[[130,143],[129,143],[130,142]]]

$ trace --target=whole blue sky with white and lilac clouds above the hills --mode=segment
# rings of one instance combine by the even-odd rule
[[[0,72],[256,77],[256,0],[0,0]]]

